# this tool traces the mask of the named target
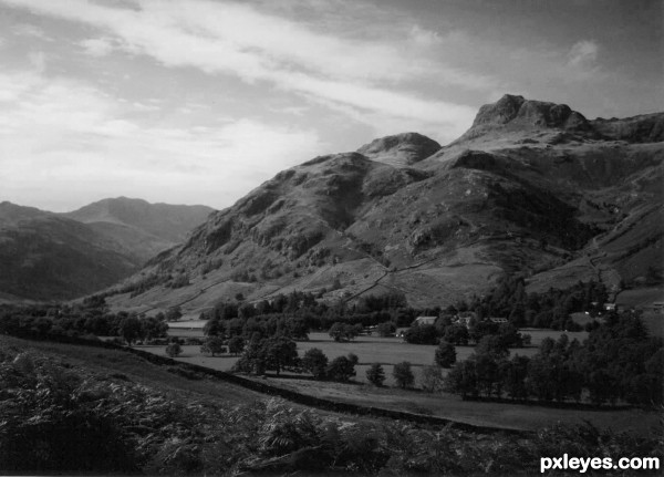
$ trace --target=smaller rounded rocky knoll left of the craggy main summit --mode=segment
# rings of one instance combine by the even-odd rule
[[[360,147],[357,153],[372,160],[405,167],[418,163],[440,149],[440,145],[418,133],[381,137]]]

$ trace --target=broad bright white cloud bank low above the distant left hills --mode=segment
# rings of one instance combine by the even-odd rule
[[[224,207],[322,147],[312,131],[249,118],[146,125],[133,103],[34,71],[0,72],[0,164],[12,178],[2,191],[19,204],[64,209],[122,194]]]

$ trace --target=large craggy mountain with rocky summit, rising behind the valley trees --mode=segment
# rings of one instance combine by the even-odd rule
[[[454,303],[523,273],[528,290],[639,280],[662,265],[664,114],[589,121],[505,95],[440,147],[416,133],[283,170],[152,259],[116,308],[197,312],[242,293]],[[610,123],[610,124],[609,124]],[[189,284],[158,284],[177,273]]]

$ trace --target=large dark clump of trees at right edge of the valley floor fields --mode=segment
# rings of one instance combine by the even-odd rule
[[[447,375],[448,391],[464,398],[519,401],[664,402],[664,349],[637,315],[612,314],[580,343],[561,335],[546,339],[532,357],[515,355],[495,335],[483,338],[468,360]]]

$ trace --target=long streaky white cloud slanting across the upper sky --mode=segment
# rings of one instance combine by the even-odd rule
[[[193,66],[249,84],[269,82],[320,104],[332,102],[362,113],[356,117],[423,121],[424,115],[432,126],[449,129],[469,124],[474,111],[413,93],[413,83],[494,87],[489,77],[434,61],[402,44],[407,43],[403,41],[407,34],[402,41],[332,35],[245,3],[155,0],[125,9],[77,0],[2,1],[103,29],[115,37],[116,48],[148,55],[167,68]],[[411,30],[413,34],[421,43],[440,40],[418,27]],[[86,40],[84,46],[89,54],[104,54],[111,48],[107,40],[98,39]]]

